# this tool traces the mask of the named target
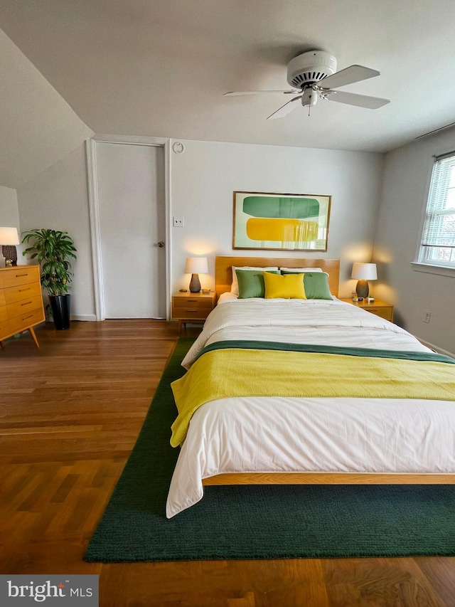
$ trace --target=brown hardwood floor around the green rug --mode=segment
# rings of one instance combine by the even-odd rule
[[[455,605],[455,557],[85,563],[177,323],[36,334],[0,351],[1,574],[99,574],[101,607]]]

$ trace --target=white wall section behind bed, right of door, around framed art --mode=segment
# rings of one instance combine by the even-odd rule
[[[341,258],[340,297],[349,297],[353,261],[370,261],[382,184],[382,154],[252,144],[183,141],[171,152],[171,214],[184,218],[171,228],[176,290],[188,288],[187,255],[207,255],[213,287],[214,256],[272,254],[277,257]],[[233,191],[332,196],[326,253],[232,250]]]

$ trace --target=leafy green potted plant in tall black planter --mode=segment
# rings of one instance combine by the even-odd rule
[[[68,283],[73,276],[71,259],[76,259],[73,239],[68,232],[41,229],[24,232],[22,242],[31,245],[23,255],[30,254],[41,265],[41,285],[48,291],[55,329],[69,329]]]

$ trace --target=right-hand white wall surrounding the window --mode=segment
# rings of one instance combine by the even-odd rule
[[[417,258],[433,155],[455,149],[455,131],[419,139],[387,154],[374,258],[378,297],[395,304],[395,322],[446,352],[455,353],[455,270],[422,273]],[[431,312],[429,323],[425,312]]]

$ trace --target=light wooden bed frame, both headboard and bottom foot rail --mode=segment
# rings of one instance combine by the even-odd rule
[[[217,298],[230,291],[232,265],[279,268],[322,268],[328,273],[331,293],[338,297],[338,259],[215,257]],[[370,473],[230,473],[203,479],[203,485],[454,485],[454,474],[370,474]]]

